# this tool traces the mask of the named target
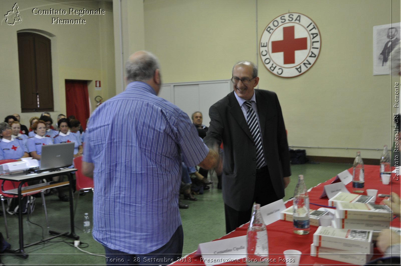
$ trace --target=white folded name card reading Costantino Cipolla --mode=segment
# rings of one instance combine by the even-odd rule
[[[242,262],[247,254],[246,236],[222,239],[198,245],[196,254],[200,254],[201,261],[207,266],[224,262]]]

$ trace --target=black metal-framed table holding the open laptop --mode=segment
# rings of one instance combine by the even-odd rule
[[[49,241],[53,238],[57,238],[59,236],[65,236],[68,238],[73,238],[75,240],[79,239],[79,236],[77,236],[77,234],[75,234],[75,230],[74,230],[74,196],[73,196],[73,175],[71,174],[71,172],[73,171],[77,171],[77,169],[74,168],[67,168],[67,169],[63,169],[60,171],[52,171],[52,172],[45,172],[45,173],[22,173],[22,172],[17,172],[17,173],[10,173],[10,174],[4,174],[4,175],[0,175],[0,179],[3,180],[2,181],[2,191],[3,191],[3,184],[4,181],[17,181],[20,182],[19,186],[18,186],[18,193],[16,193],[15,195],[18,195],[18,204],[19,206],[22,206],[22,185],[28,181],[32,181],[32,180],[39,180],[39,179],[43,179],[43,178],[47,178],[47,177],[54,177],[54,176],[59,176],[59,175],[68,175],[68,180],[69,180],[69,203],[70,203],[70,225],[71,225],[71,232],[56,232],[56,231],[52,231],[49,230],[49,234],[52,234],[54,236],[51,236],[49,238],[46,239],[42,239],[39,240],[37,242],[31,243],[31,244],[26,244],[24,245],[24,228],[23,228],[23,219],[22,219],[22,212],[18,212],[18,227],[19,227],[19,242],[20,242],[20,247],[16,250],[12,250],[12,249],[6,249],[6,252],[12,253],[12,254],[16,254],[19,256],[22,256],[22,258],[28,258],[28,254],[26,254],[24,252],[24,248],[36,245],[38,243],[42,243],[42,242],[46,242]],[[10,192],[6,192],[3,191],[4,193],[8,193],[8,194],[12,194]],[[5,211],[5,210],[3,210]],[[6,215],[4,213],[4,215]]]

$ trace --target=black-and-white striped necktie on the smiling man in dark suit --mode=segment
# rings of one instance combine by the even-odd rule
[[[263,146],[259,125],[257,123],[256,114],[255,111],[253,111],[251,101],[245,101],[245,105],[248,107],[247,123],[256,147],[256,168],[261,168],[261,166],[265,163],[265,158],[263,155]]]

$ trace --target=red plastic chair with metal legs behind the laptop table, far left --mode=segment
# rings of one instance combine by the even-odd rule
[[[14,159],[5,159],[5,160],[0,160],[0,165],[1,164],[4,164],[4,163],[12,163],[12,162],[16,162],[17,160],[14,160]],[[3,179],[1,179],[1,175],[0,175],[0,184],[3,182]],[[4,181],[4,184],[3,184],[3,190],[4,191],[7,191],[7,190],[10,190],[10,189],[15,189],[15,188],[18,188],[18,186],[20,185],[20,182],[16,182],[16,181]],[[27,185],[26,185],[26,183],[24,183],[23,185],[22,185],[22,187],[26,187]],[[33,194],[36,194],[36,193],[38,193],[38,192],[32,192],[32,193],[27,193],[27,194],[24,194],[23,195],[23,197],[25,197],[25,196],[30,196],[30,195],[33,195]],[[44,208],[45,208],[45,215],[46,215],[46,223],[47,223],[47,227],[49,227],[49,220],[48,220],[48,218],[47,218],[47,209],[46,209],[46,203],[45,203],[45,197],[44,197],[44,195],[43,195],[43,191],[41,192],[41,194],[42,194],[42,202],[43,202],[43,206],[44,206]],[[5,193],[5,192],[3,192],[2,190],[0,190],[0,198],[1,198],[1,205],[2,205],[2,208],[3,208],[3,216],[4,216],[4,224],[5,224],[5,227],[6,227],[6,236],[7,236],[7,239],[10,239],[9,238],[9,236],[8,236],[8,226],[7,226],[7,217],[6,217],[6,208],[4,207],[4,200],[7,200],[7,199],[12,199],[12,198],[17,198],[18,197],[18,195],[14,195],[14,194],[8,194],[8,193]]]

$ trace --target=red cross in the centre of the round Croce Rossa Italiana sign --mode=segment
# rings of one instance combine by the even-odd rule
[[[283,28],[283,40],[271,42],[271,52],[284,52],[284,64],[295,63],[295,51],[308,48],[307,38],[294,38],[294,26]]]

